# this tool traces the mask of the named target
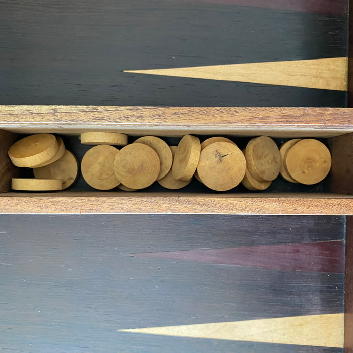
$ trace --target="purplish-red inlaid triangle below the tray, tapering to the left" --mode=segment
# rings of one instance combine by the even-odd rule
[[[225,249],[162,251],[139,253],[134,256],[274,268],[283,271],[344,272],[342,240]]]

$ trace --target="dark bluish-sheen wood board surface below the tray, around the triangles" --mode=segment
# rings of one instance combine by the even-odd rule
[[[0,216],[0,347],[26,352],[342,351],[116,330],[342,313],[343,273],[136,253],[249,246],[264,246],[266,253],[268,245],[310,242],[318,245],[324,265],[342,261],[342,251],[328,260],[320,246],[343,240],[344,229],[344,217],[325,216]],[[297,261],[303,256],[299,251]]]

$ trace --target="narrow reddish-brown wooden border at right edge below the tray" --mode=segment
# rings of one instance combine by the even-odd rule
[[[347,217],[344,289],[344,352],[353,352],[353,217]]]

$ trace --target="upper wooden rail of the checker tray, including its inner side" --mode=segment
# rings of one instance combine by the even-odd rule
[[[0,128],[14,132],[117,131],[182,136],[238,134],[331,137],[353,132],[349,108],[0,105]]]

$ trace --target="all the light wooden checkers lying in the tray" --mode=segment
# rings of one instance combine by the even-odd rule
[[[135,191],[158,182],[181,189],[193,177],[216,191],[242,183],[247,189],[267,189],[280,174],[291,183],[316,184],[331,168],[328,148],[314,139],[292,139],[280,148],[268,136],[251,139],[240,150],[225,137],[200,143],[185,135],[178,146],[159,137],[144,136],[128,144],[128,136],[115,132],[84,132],[82,144],[92,145],[83,156],[84,180],[97,190]],[[119,146],[116,147],[116,146]],[[12,180],[14,190],[62,190],[74,183],[78,162],[60,137],[35,134],[11,146],[9,156],[19,167],[33,168],[35,178]]]

